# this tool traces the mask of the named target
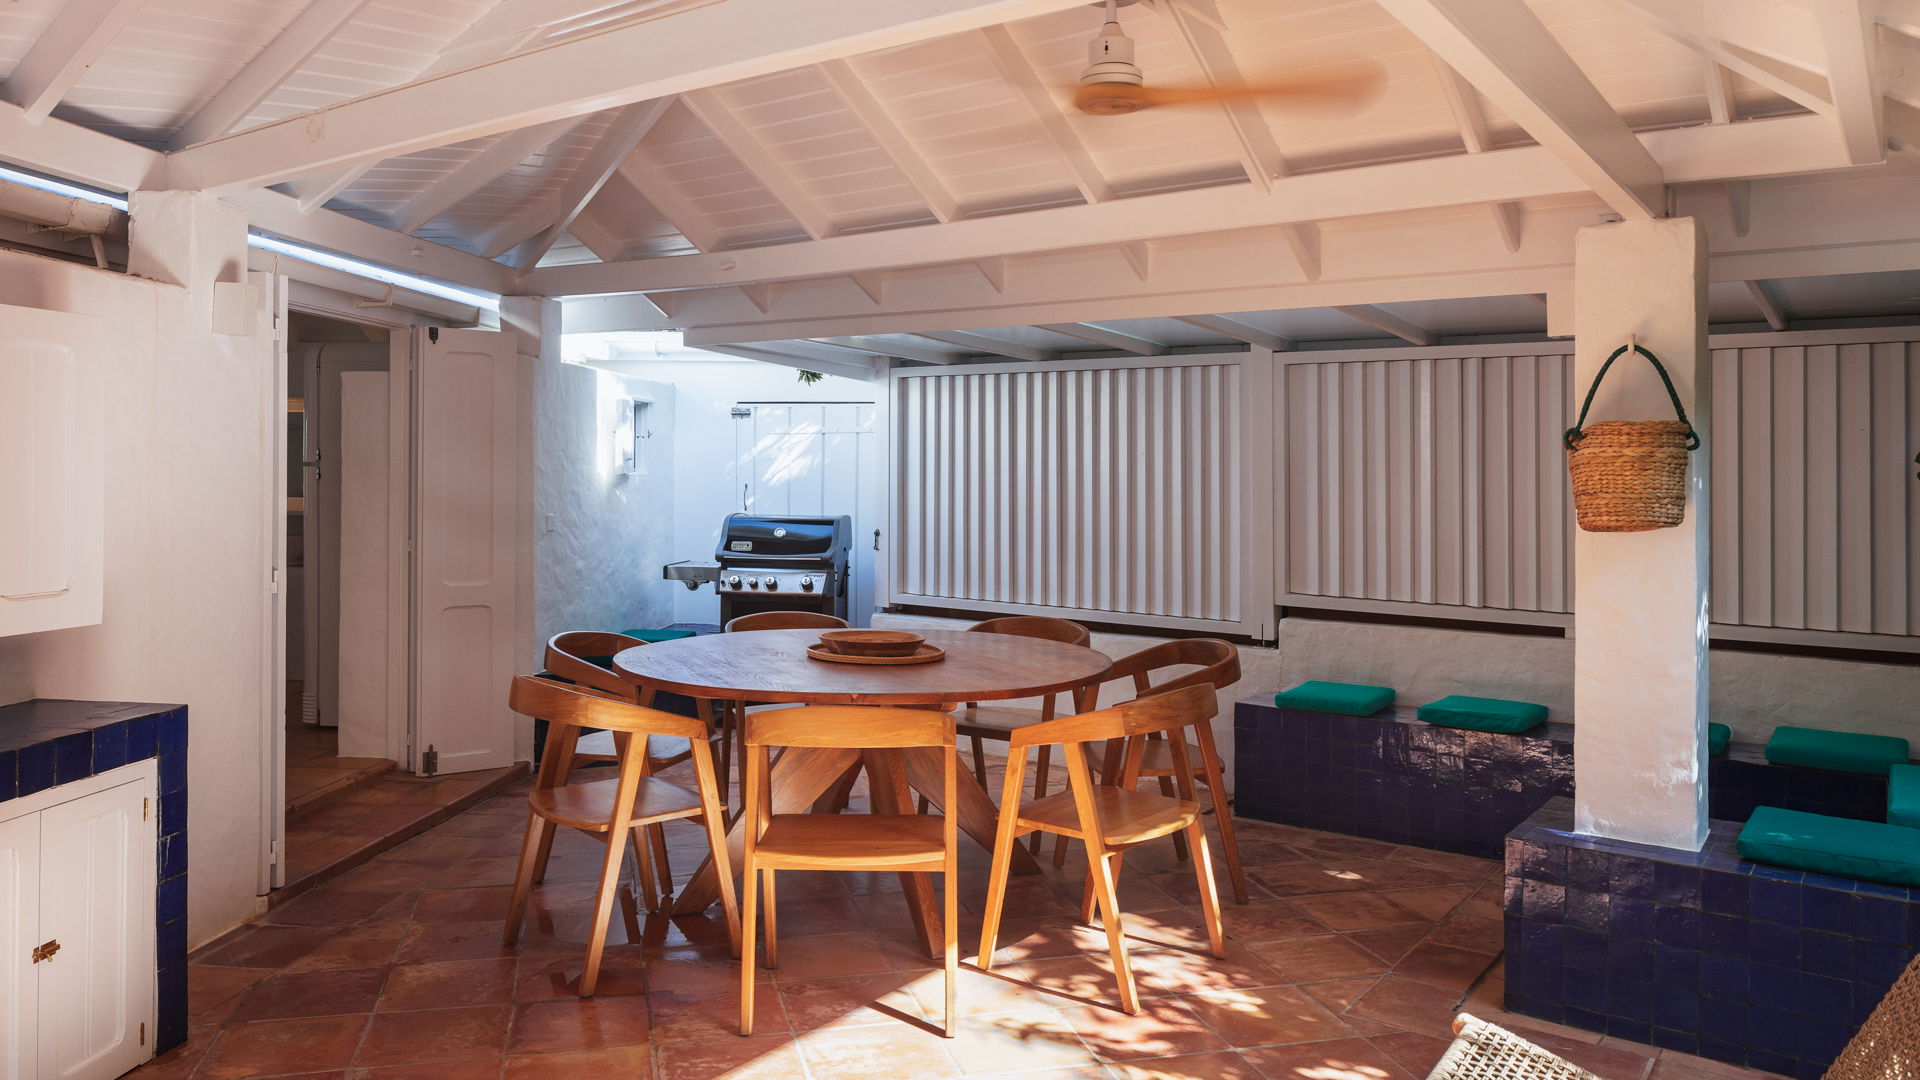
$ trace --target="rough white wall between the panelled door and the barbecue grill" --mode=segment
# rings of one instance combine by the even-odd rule
[[[612,432],[626,400],[651,400],[659,432],[639,477],[614,469]],[[674,621],[660,580],[672,561],[674,388],[563,363],[534,361],[534,638]]]

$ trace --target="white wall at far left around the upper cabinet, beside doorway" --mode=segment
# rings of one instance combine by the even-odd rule
[[[244,281],[246,219],[186,192],[140,192],[132,269],[0,252],[0,304],[111,319],[106,613],[98,626],[0,638],[0,701],[188,705],[188,936],[257,909],[259,648],[269,413],[253,338],[211,332],[213,282]]]

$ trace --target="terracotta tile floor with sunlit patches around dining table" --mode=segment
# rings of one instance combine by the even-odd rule
[[[444,780],[451,782],[451,780]],[[1254,901],[1229,903],[1231,957],[1200,934],[1169,846],[1127,857],[1123,905],[1144,995],[1119,1013],[1104,934],[1071,922],[1083,863],[1016,878],[995,970],[964,967],[960,1036],[931,1032],[941,978],[899,878],[781,874],[781,965],[756,1034],[733,1034],[735,961],[716,915],[614,920],[601,994],[574,995],[599,846],[563,830],[516,947],[499,945],[526,803],[513,792],[372,857],[202,947],[192,1038],[140,1080],[1417,1080],[1473,995],[1605,1080],[1757,1074],[1524,1019],[1496,1005],[1500,867],[1238,822]],[[668,826],[674,872],[705,851]],[[987,855],[962,840],[962,955]]]

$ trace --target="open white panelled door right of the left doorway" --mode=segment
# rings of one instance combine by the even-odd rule
[[[507,686],[518,653],[520,392],[511,334],[415,329],[415,773],[513,761]],[[396,369],[401,359],[396,356]],[[397,402],[396,388],[396,405]]]

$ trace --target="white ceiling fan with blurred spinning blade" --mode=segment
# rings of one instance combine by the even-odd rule
[[[1127,0],[1131,2],[1131,0]],[[1179,0],[1167,0],[1179,2]],[[1121,0],[1106,0],[1106,25],[1087,46],[1087,69],[1073,88],[1073,108],[1089,115],[1125,115],[1154,106],[1190,106],[1250,98],[1283,98],[1306,106],[1363,106],[1384,83],[1379,63],[1361,60],[1338,73],[1302,75],[1263,83],[1200,86],[1148,86],[1133,61],[1133,38],[1119,27]]]

